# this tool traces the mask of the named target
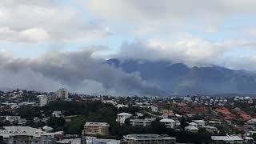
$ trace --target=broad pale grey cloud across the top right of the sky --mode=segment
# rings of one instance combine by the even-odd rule
[[[91,14],[110,24],[126,26],[126,32],[134,34],[159,31],[165,34],[186,29],[215,33],[231,16],[256,13],[254,0],[77,1]]]

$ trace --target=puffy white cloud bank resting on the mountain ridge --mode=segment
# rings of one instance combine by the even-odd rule
[[[246,60],[253,56],[241,55],[239,57],[237,55],[239,52],[234,52],[242,50],[250,53],[253,51],[251,48],[253,46],[256,46],[254,42],[238,39],[229,39],[222,42],[210,42],[201,38],[180,38],[174,42],[159,39],[136,40],[134,42],[123,42],[120,50],[113,57],[182,62],[189,66],[217,65],[234,69],[239,69],[240,66],[240,68],[246,70],[256,70],[254,62]],[[244,63],[244,66],[242,63]]]

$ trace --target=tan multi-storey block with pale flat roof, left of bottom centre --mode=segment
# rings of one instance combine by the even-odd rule
[[[110,125],[107,122],[86,122],[82,134],[109,134]]]

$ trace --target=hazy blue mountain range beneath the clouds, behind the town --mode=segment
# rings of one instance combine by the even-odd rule
[[[107,63],[158,85],[166,94],[256,94],[256,74],[222,66],[111,58]]]

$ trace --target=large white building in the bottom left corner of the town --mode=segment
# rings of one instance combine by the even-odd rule
[[[0,130],[0,142],[8,144],[54,144],[56,141],[54,134],[41,129],[30,126],[4,126],[4,130]]]

